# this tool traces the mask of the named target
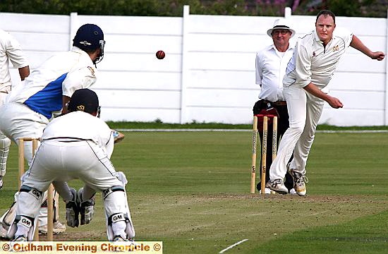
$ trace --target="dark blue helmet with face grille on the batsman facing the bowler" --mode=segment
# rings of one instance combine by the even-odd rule
[[[104,32],[95,24],[82,25],[78,28],[73,39],[73,46],[83,49],[85,52],[101,49],[95,63],[98,63],[104,57],[104,45]]]

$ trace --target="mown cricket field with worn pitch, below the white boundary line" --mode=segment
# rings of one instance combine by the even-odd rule
[[[225,253],[387,252],[386,133],[317,133],[305,197],[249,194],[250,132],[125,134],[112,161],[128,176],[136,238],[163,241],[164,253],[219,253],[244,239]],[[16,164],[13,145],[1,213]],[[92,223],[56,240],[106,239],[98,196]]]

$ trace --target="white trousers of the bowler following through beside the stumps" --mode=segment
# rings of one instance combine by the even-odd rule
[[[286,165],[292,154],[290,168],[305,174],[308,154],[325,104],[324,100],[294,85],[284,86],[283,94],[287,101],[290,127],[281,138],[277,157],[269,170],[271,181],[284,179]]]

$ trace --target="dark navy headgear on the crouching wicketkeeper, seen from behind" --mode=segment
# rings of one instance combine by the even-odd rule
[[[98,97],[95,92],[90,89],[75,90],[68,102],[68,111],[84,111],[92,114],[99,111]]]

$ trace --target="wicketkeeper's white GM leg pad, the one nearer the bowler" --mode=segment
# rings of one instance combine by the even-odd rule
[[[113,241],[114,236],[120,232],[114,232],[112,224],[116,222],[126,222],[126,238],[135,237],[135,229],[129,212],[126,191],[123,186],[114,186],[104,191],[105,217],[107,221],[107,236],[109,241]]]

